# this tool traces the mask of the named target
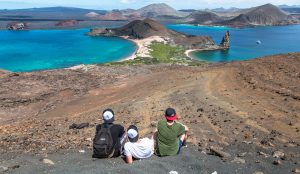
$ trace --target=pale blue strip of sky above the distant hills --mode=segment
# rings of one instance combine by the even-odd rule
[[[272,3],[300,5],[300,0],[0,0],[0,9],[67,6],[90,9],[138,9],[152,3],[166,3],[175,9],[248,8]]]

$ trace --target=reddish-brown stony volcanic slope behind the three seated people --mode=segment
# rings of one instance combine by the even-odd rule
[[[272,166],[272,153],[280,150],[285,153],[282,165],[287,165],[281,169],[290,172],[300,159],[299,67],[300,53],[295,53],[205,67],[2,72],[0,153],[90,149],[89,138],[105,108],[115,111],[116,122],[136,124],[146,136],[164,119],[164,110],[173,107],[179,121],[190,127],[189,142],[199,151],[214,146],[232,156],[248,152],[253,166],[257,155],[267,154]],[[84,122],[90,126],[69,129]]]

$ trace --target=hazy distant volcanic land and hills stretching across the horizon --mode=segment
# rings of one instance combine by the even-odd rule
[[[107,11],[69,7],[0,10],[0,29],[8,28],[9,23],[26,24],[27,29],[83,28],[105,26],[112,22],[121,26],[134,20],[147,18],[163,24],[180,23],[239,28],[278,26],[299,24],[300,8],[299,6],[265,4],[247,9],[176,10],[165,3],[159,3],[150,4],[137,10]]]

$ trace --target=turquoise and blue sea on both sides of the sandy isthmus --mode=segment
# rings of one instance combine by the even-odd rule
[[[300,52],[300,25],[235,29],[192,25],[167,25],[191,35],[209,35],[216,44],[227,30],[231,47],[226,51],[202,51],[193,57],[210,62],[246,60],[279,53]],[[116,37],[89,37],[88,29],[0,31],[0,69],[34,71],[79,64],[118,61],[136,49]],[[261,44],[257,44],[257,41]]]

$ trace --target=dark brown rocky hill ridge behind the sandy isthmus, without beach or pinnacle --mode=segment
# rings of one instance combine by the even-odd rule
[[[115,29],[91,29],[90,36],[127,36],[131,39],[144,39],[151,36],[166,37],[170,42],[188,49],[202,49],[217,47],[209,36],[187,36],[173,30],[152,19],[135,20]]]

